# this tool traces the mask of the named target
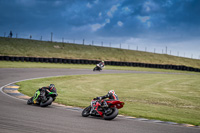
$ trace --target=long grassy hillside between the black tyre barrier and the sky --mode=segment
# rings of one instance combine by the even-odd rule
[[[200,60],[166,54],[3,37],[0,37],[0,55],[57,57],[67,59],[100,59],[152,64],[185,65],[200,68]]]

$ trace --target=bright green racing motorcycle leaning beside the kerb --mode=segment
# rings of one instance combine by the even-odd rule
[[[48,105],[51,105],[52,102],[56,99],[58,94],[56,92],[47,92],[45,90],[37,90],[35,92],[35,95],[31,97],[28,101],[27,104],[36,104],[39,105],[40,107],[46,107]]]

